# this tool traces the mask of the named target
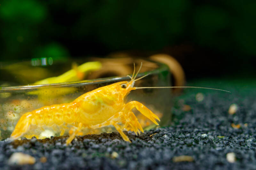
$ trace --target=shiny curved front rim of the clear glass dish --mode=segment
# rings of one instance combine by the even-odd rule
[[[150,61],[154,62],[154,61]],[[166,66],[163,63],[156,63],[159,67],[143,72],[138,74],[138,78],[146,75],[146,74],[157,74],[160,73],[162,70],[169,70],[168,66]],[[132,74],[129,74],[132,75]],[[64,83],[52,83],[52,84],[35,84],[35,85],[21,85],[21,86],[6,86],[6,87],[0,87],[0,92],[5,91],[13,91],[13,90],[24,90],[24,89],[38,89],[38,88],[50,88],[50,87],[77,87],[81,85],[90,85],[90,84],[97,84],[97,83],[105,83],[105,82],[111,82],[111,81],[121,81],[121,80],[127,80],[130,79],[128,76],[115,76],[115,77],[107,77],[107,78],[98,78],[98,79],[91,79],[91,80],[82,80],[82,81],[72,81],[72,82],[64,82]]]

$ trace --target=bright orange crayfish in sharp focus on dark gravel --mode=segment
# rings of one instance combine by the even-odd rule
[[[142,63],[140,65],[140,68]],[[131,129],[136,134],[143,132],[139,121],[132,112],[135,107],[140,113],[158,125],[160,119],[150,111],[146,106],[138,101],[124,103],[125,96],[135,89],[143,88],[198,88],[198,87],[134,87],[134,83],[147,75],[137,78],[140,69],[135,74],[134,71],[131,81],[121,81],[100,87],[87,92],[76,98],[71,103],[53,104],[44,106],[31,112],[27,112],[21,116],[16,124],[10,139],[18,139],[24,135],[33,125],[37,127],[58,125],[62,127],[72,126],[76,130],[72,131],[69,138],[66,140],[68,145],[79,131],[83,128],[96,129],[104,126],[113,125],[120,133],[125,141],[131,142],[124,134],[124,129]],[[212,89],[212,88],[204,88]],[[220,89],[218,89],[220,90]],[[222,90],[226,91],[226,90]],[[63,135],[65,128],[62,129],[60,135]]]

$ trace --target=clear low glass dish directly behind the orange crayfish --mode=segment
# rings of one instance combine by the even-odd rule
[[[93,58],[102,64],[101,69],[87,73],[90,80],[81,80],[73,82],[52,83],[52,84],[32,84],[46,77],[58,76],[70,69],[73,61],[51,61],[49,58],[20,63],[0,63],[1,81],[0,81],[0,139],[10,137],[20,116],[26,112],[33,111],[42,106],[72,102],[82,94],[93,89],[106,86],[118,81],[129,81],[130,78],[124,75],[120,65],[124,66],[126,72],[133,72],[133,62],[136,65],[136,71],[140,63],[143,62],[141,73],[137,78],[150,73],[145,78],[136,81],[135,87],[163,87],[171,86],[170,72],[168,66],[148,61],[144,59],[107,59]],[[38,60],[36,60],[38,61]],[[50,61],[50,62],[49,62]],[[76,60],[77,65],[88,60]],[[44,65],[42,65],[42,63]],[[107,64],[106,64],[107,63]],[[120,75],[117,75],[121,72]],[[109,75],[113,75],[108,77]],[[97,78],[104,77],[105,78]],[[27,84],[27,85],[25,85]],[[171,118],[171,91],[170,89],[137,89],[132,90],[125,98],[125,102],[132,100],[139,101],[154,112],[160,119],[160,126],[166,125]],[[136,117],[143,128],[148,129],[154,124],[133,109]],[[37,138],[58,136],[60,127],[38,127],[33,130],[33,135]],[[112,132],[115,129],[111,126],[102,127],[93,133]],[[84,135],[86,132],[84,131]],[[24,135],[27,138],[32,136]]]

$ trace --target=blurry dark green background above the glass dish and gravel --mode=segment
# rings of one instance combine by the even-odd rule
[[[132,51],[171,54],[187,78],[255,74],[255,0],[0,4],[0,61]]]

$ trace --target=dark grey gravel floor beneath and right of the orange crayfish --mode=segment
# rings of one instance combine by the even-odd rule
[[[204,83],[209,82],[195,85]],[[116,132],[79,136],[69,146],[65,145],[66,136],[1,141],[0,169],[256,169],[256,90],[254,86],[232,88],[228,88],[231,94],[185,91],[176,99],[176,105],[188,104],[190,111],[174,107],[172,126],[146,131],[138,137],[126,133],[132,143],[124,142]],[[198,92],[204,94],[201,102],[195,100]],[[239,109],[229,115],[232,103]],[[232,123],[241,127],[232,128]],[[14,152],[29,154],[36,163],[8,165]],[[227,160],[230,152],[235,154],[234,163]],[[175,162],[174,158],[181,155],[191,156],[193,161]],[[47,158],[45,163],[42,157]]]

